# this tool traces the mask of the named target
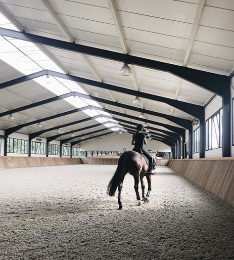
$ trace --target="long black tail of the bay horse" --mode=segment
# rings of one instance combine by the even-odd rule
[[[124,152],[118,161],[118,167],[114,173],[114,176],[110,180],[108,187],[107,187],[107,194],[109,196],[114,196],[115,191],[120,183],[122,175],[126,172],[127,168],[127,159],[128,159],[128,154],[127,152]]]

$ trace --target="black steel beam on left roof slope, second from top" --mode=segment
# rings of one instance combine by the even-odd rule
[[[44,104],[47,104],[47,103],[50,103],[50,102],[53,102],[53,101],[57,101],[57,100],[60,100],[60,99],[63,99],[63,98],[69,97],[69,96],[73,96],[73,95],[74,95],[73,92],[69,92],[69,93],[66,93],[66,94],[63,94],[63,95],[60,95],[60,96],[54,96],[54,97],[51,97],[51,98],[48,98],[48,99],[44,99],[44,100],[41,100],[39,102],[35,102],[35,103],[29,104],[29,105],[26,105],[26,106],[22,106],[22,107],[18,107],[18,108],[15,108],[15,109],[11,109],[11,110],[2,112],[2,113],[0,113],[0,117],[6,116],[6,115],[9,115],[9,114],[13,114],[13,113],[16,113],[16,112],[20,112],[20,111],[23,111],[23,110],[26,110],[26,109],[30,109],[30,108],[33,108],[33,107],[41,106],[41,105],[44,105]]]

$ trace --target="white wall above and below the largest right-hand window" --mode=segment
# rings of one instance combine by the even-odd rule
[[[213,100],[205,107],[205,120],[210,118],[215,112],[222,107],[222,97],[215,96]],[[205,158],[222,157],[222,148],[205,151]]]

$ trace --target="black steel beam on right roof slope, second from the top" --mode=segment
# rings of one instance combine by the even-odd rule
[[[50,76],[53,76],[53,77],[71,80],[74,82],[79,82],[79,83],[83,83],[83,84],[90,85],[90,86],[100,87],[103,89],[113,90],[113,91],[117,91],[117,92],[124,93],[124,94],[129,94],[129,95],[133,95],[133,96],[147,98],[147,99],[154,100],[154,101],[167,103],[168,105],[178,108],[197,118],[199,116],[199,111],[201,109],[203,109],[203,107],[199,106],[199,105],[195,105],[195,104],[191,104],[191,103],[187,103],[187,102],[183,102],[183,101],[179,101],[179,100],[175,100],[175,99],[171,99],[171,98],[167,98],[167,97],[157,96],[157,95],[153,95],[153,94],[149,94],[149,93],[145,93],[145,92],[141,92],[141,91],[137,91],[137,90],[133,90],[133,89],[129,89],[129,88],[118,87],[118,86],[106,84],[103,82],[97,82],[97,81],[93,81],[93,80],[89,80],[89,79],[84,79],[84,78],[72,76],[70,74],[64,74],[64,73],[59,73],[59,72],[54,72],[54,71],[49,71],[49,70],[47,71],[47,74]]]

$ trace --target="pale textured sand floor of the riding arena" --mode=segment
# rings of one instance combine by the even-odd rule
[[[234,260],[234,210],[166,167],[150,202],[123,210],[106,186],[116,166],[0,170],[0,260]]]

